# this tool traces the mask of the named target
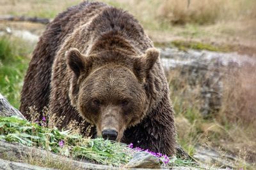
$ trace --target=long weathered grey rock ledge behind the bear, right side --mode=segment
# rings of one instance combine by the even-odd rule
[[[223,80],[228,69],[237,69],[245,64],[256,66],[256,60],[237,53],[209,52],[198,50],[180,51],[177,48],[161,48],[161,62],[166,74],[177,74],[172,85],[186,87],[184,96],[196,96],[200,101],[200,113],[211,116],[221,108]],[[181,78],[182,77],[182,78]],[[180,86],[180,87],[179,87]],[[198,90],[198,87],[200,88]]]

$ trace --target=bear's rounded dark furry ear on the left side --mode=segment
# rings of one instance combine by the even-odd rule
[[[71,48],[67,53],[67,66],[76,74],[77,77],[81,73],[86,73],[90,61],[77,50],[77,48]]]

